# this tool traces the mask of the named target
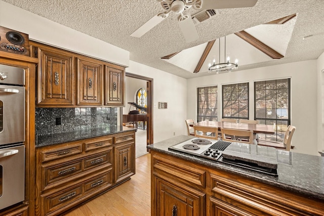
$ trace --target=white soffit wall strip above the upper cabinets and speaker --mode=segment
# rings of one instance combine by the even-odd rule
[[[44,44],[123,66],[129,65],[129,51],[3,1],[0,1],[0,26],[26,33],[29,39]]]

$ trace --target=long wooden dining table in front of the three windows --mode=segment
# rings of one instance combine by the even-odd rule
[[[218,127],[219,131],[221,128],[230,128],[230,129],[242,129],[242,130],[246,130],[246,131],[253,131],[254,134],[274,134],[273,125],[267,125],[267,124],[250,124],[250,123],[235,123],[235,122],[220,122],[220,121],[199,121],[199,122],[190,124],[190,126],[193,126],[193,125]]]

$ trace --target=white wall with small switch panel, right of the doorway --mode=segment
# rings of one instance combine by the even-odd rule
[[[134,61],[127,72],[153,78],[153,139],[154,143],[187,134],[185,127],[187,80]],[[167,102],[167,109],[158,109],[158,102]]]

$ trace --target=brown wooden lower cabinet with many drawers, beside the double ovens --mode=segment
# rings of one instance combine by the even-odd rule
[[[135,131],[37,148],[35,214],[61,214],[130,179],[134,148]]]

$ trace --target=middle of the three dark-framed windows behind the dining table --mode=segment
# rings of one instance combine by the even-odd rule
[[[223,85],[222,118],[249,119],[249,83]]]

